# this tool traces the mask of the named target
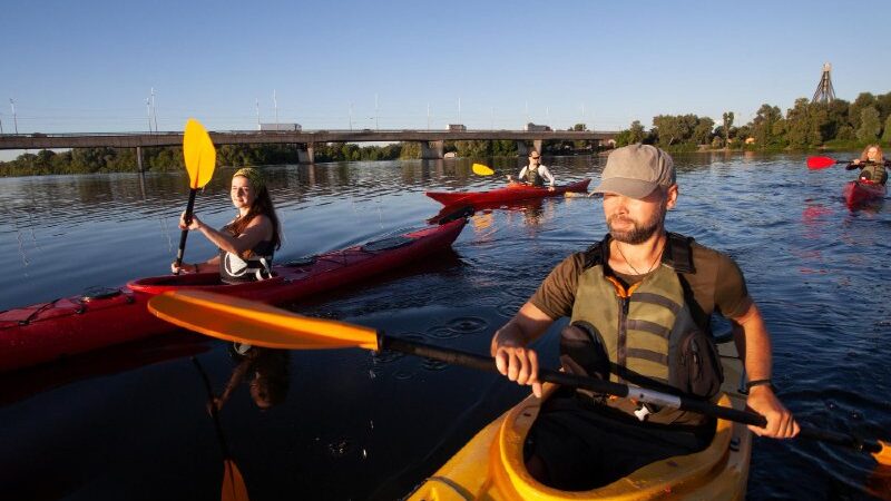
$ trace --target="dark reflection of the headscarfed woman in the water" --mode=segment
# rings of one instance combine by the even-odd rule
[[[238,364],[232,371],[223,393],[215,396],[213,404],[208,403],[208,406],[215,405],[217,411],[223,409],[248,372],[251,399],[257,407],[266,410],[284,402],[291,383],[287,375],[287,351],[233,344],[229,353]]]

